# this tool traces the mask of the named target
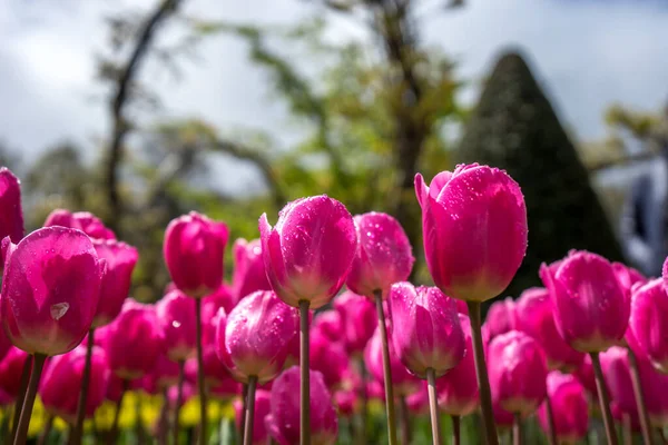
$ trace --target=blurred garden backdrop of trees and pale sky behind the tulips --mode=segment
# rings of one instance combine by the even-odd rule
[[[89,210],[137,246],[144,300],[171,218],[257,238],[323,192],[399,218],[429,281],[413,177],[472,161],[527,198],[509,295],[569,248],[658,275],[666,23],[666,0],[3,0],[0,162],[28,229]]]

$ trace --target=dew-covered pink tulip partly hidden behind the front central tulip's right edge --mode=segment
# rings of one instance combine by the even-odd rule
[[[356,294],[387,296],[390,286],[404,281],[413,269],[413,249],[409,237],[390,215],[372,211],[354,218],[358,246],[347,287]]]

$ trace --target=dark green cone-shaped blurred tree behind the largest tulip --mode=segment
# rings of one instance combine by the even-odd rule
[[[503,168],[522,187],[529,249],[507,290],[510,295],[540,285],[540,264],[571,248],[621,259],[589,174],[520,55],[507,53],[497,62],[465,127],[458,159]]]

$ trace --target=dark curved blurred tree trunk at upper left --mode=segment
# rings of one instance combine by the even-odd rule
[[[127,136],[129,126],[124,117],[124,110],[128,101],[129,89],[137,75],[139,66],[147,55],[147,49],[155,38],[158,26],[170,14],[176,12],[181,0],[163,0],[157,9],[146,19],[141,32],[127,63],[118,77],[117,90],[111,101],[112,129],[109,144],[109,159],[107,165],[107,199],[109,204],[109,226],[119,230],[119,220],[122,205],[118,192],[118,167],[122,159],[122,144]]]

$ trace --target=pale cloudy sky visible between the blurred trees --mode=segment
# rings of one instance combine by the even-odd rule
[[[0,140],[24,157],[72,139],[90,145],[107,119],[95,82],[95,55],[105,47],[105,13],[157,0],[0,1]],[[308,0],[185,0],[186,12],[264,23],[298,20]],[[505,47],[521,48],[564,125],[581,139],[605,135],[612,102],[657,109],[668,100],[668,0],[469,0],[458,12],[426,11],[423,40],[480,81]],[[336,20],[334,38],[358,32]],[[166,36],[168,38],[169,36]],[[144,72],[167,116],[199,116],[222,128],[285,131],[286,115],[264,87],[246,48],[230,38],[206,42],[184,78]],[[146,77],[149,77],[146,79]],[[464,99],[473,100],[478,91]],[[289,128],[289,127],[288,127]]]

